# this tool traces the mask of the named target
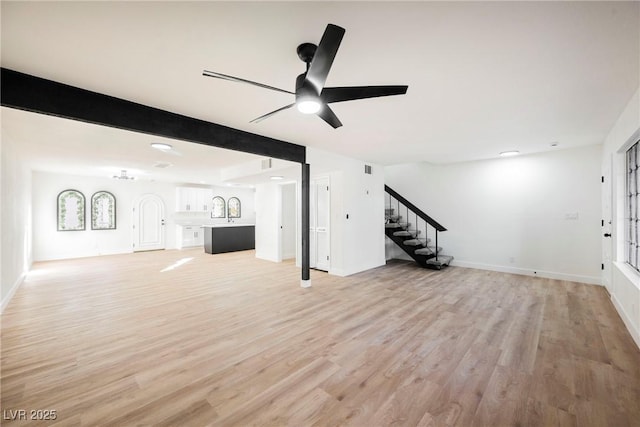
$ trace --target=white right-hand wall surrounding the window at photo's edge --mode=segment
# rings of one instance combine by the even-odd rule
[[[640,138],[640,89],[636,91],[627,107],[609,132],[602,155],[603,173],[612,163],[612,194],[614,195],[612,216],[613,261],[611,284],[608,287],[611,300],[620,317],[640,347],[640,274],[624,262],[624,191],[625,152]],[[603,211],[606,210],[603,203]]]

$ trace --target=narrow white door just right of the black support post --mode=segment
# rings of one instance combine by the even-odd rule
[[[329,177],[311,181],[309,201],[309,266],[329,271]]]

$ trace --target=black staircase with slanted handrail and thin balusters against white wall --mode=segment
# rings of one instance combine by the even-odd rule
[[[448,266],[453,257],[442,254],[438,246],[438,233],[447,229],[389,186],[384,191],[387,237],[422,267],[440,270]],[[435,239],[433,245],[430,236]]]

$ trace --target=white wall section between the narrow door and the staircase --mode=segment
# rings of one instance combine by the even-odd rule
[[[384,265],[383,168],[371,164],[367,175],[363,161],[309,147],[307,162],[312,179],[330,178],[329,273],[347,276]]]

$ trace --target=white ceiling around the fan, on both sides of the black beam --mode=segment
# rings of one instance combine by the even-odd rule
[[[1,14],[2,67],[383,165],[599,144],[640,85],[639,2],[2,1]],[[293,90],[296,47],[327,23],[346,29],[327,86],[407,95],[332,104],[336,130],[295,109],[251,124],[293,96],[201,75]],[[177,161],[149,157],[148,136],[6,110],[3,131],[59,155],[45,164]],[[216,155],[255,159],[172,144],[203,173]]]

